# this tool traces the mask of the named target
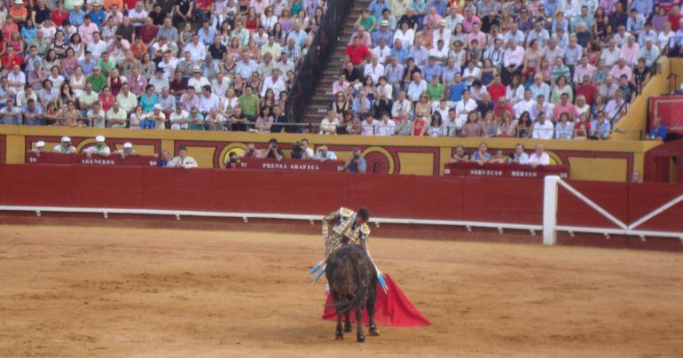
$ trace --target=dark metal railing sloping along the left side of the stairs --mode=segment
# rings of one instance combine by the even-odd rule
[[[299,64],[299,70],[289,90],[285,106],[289,121],[302,122],[353,4],[353,0],[329,2],[310,49]]]

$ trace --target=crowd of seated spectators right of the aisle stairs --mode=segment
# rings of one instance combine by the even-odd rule
[[[320,133],[607,139],[683,51],[678,3],[373,0]]]

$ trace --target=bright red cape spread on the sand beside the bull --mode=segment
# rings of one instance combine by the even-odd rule
[[[374,302],[375,323],[391,327],[421,327],[431,324],[428,318],[420,314],[420,311],[405,297],[404,292],[398,288],[391,276],[384,274],[384,280],[387,282],[388,292],[384,293],[380,284],[377,284],[377,300]],[[336,321],[337,314],[331,304],[332,299],[330,293],[327,292],[323,319]],[[352,322],[356,322],[354,315],[351,315],[350,318]],[[363,324],[367,326],[368,322],[367,310],[364,310]]]

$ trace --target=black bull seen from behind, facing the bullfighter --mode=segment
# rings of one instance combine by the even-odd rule
[[[342,332],[342,316],[346,318],[344,331],[353,327],[349,321],[351,311],[356,314],[357,340],[365,342],[363,334],[363,308],[367,307],[370,318],[368,333],[379,336],[374,324],[374,300],[377,297],[377,271],[373,262],[358,245],[346,245],[338,248],[327,258],[327,283],[330,285],[332,303],[337,311],[336,339],[344,339]]]

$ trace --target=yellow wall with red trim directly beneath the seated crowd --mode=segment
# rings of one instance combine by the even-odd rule
[[[359,147],[364,155],[373,155],[386,164],[387,172],[398,174],[433,175],[444,173],[444,163],[451,157],[453,147],[464,145],[468,151],[486,142],[492,150],[511,150],[517,143],[531,150],[537,143],[543,143],[554,162],[568,164],[570,178],[578,180],[602,180],[623,182],[631,177],[627,170],[632,160],[633,170],[642,172],[643,154],[659,143],[629,140],[609,141],[536,141],[515,138],[455,138],[455,137],[373,137],[373,136],[320,136],[292,134],[255,134],[231,132],[198,132],[171,130],[132,130],[115,128],[59,128],[0,126],[0,139],[4,137],[7,163],[24,163],[27,149],[25,136],[30,136],[28,146],[38,140],[56,143],[60,136],[71,136],[76,140],[87,138],[88,142],[97,135],[107,137],[120,146],[131,141],[141,153],[150,154],[154,145],[175,152],[177,145],[188,147],[190,155],[199,161],[200,167],[214,167],[214,162],[223,163],[226,154],[239,151],[249,142],[263,147],[276,137],[285,146],[302,138],[308,138],[312,147],[328,144],[340,160],[349,159],[353,148]],[[136,141],[150,143],[137,144]],[[78,146],[82,149],[83,144]],[[117,148],[118,149],[118,148]],[[287,154],[287,151],[286,151]],[[288,155],[288,154],[287,154]],[[438,158],[438,161],[436,159]],[[381,166],[380,166],[381,167]]]

